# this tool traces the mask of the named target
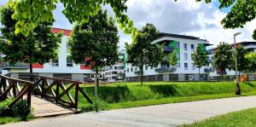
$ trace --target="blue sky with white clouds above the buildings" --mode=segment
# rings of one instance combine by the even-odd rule
[[[6,4],[8,0],[1,0],[0,4]],[[171,32],[177,34],[191,35],[202,39],[207,39],[209,43],[216,46],[219,42],[233,42],[233,34],[242,32],[237,37],[237,41],[252,41],[253,30],[256,27],[256,20],[248,22],[244,28],[235,30],[223,29],[220,24],[230,11],[229,9],[218,9],[218,1],[212,3],[195,3],[195,0],[178,0],[176,3],[170,0],[128,0],[127,13],[134,25],[140,29],[146,23],[153,23],[160,32]],[[66,17],[61,14],[63,6],[57,4],[54,11],[54,27],[71,30],[71,25]],[[108,14],[113,15],[112,10],[107,6]],[[123,49],[124,43],[131,43],[131,35],[125,35],[119,31],[120,48]]]

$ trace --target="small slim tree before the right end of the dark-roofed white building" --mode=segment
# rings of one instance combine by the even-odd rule
[[[194,55],[192,55],[192,60],[196,67],[198,67],[199,81],[200,79],[200,68],[202,66],[209,66],[209,57],[206,51],[202,50],[200,46],[197,46]]]

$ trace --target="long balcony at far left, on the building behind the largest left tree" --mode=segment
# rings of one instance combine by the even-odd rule
[[[4,62],[2,69],[8,70],[8,69],[28,69],[29,64],[16,62],[15,64],[10,64],[9,62]]]

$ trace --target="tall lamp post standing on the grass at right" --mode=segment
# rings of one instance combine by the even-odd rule
[[[241,90],[240,90],[240,86],[239,86],[239,79],[238,79],[238,75],[237,75],[237,59],[236,59],[236,36],[241,34],[241,32],[236,32],[234,34],[234,46],[235,46],[235,62],[236,62],[236,95],[241,95]]]

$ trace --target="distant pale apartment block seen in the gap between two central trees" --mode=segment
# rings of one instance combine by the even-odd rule
[[[103,67],[102,77],[108,82],[123,81],[125,79],[125,50],[121,50],[119,61],[113,66]]]

